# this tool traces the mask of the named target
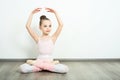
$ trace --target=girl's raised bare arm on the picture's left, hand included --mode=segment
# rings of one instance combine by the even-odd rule
[[[29,34],[30,34],[31,37],[35,40],[36,43],[38,42],[39,36],[32,30],[32,28],[31,28],[30,26],[31,26],[31,22],[32,22],[33,15],[34,15],[35,13],[38,13],[40,10],[41,10],[41,8],[36,8],[36,9],[34,9],[34,10],[30,13],[29,18],[28,18],[27,23],[26,23],[26,28],[27,28]]]

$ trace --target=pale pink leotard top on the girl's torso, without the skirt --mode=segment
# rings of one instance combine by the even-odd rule
[[[51,37],[41,38],[38,41],[39,56],[38,59],[52,58],[54,43]]]

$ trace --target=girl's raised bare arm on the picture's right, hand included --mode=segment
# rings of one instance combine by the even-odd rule
[[[53,9],[51,9],[51,8],[46,8],[46,10],[47,10],[48,12],[54,13],[55,16],[56,16],[57,22],[58,22],[58,28],[57,28],[57,30],[55,31],[55,33],[52,35],[53,41],[54,41],[54,43],[55,43],[55,41],[57,40],[57,38],[58,38],[58,36],[59,36],[59,34],[60,34],[61,30],[62,30],[63,23],[62,23],[60,17],[58,16],[58,14],[57,14],[57,12],[56,12],[55,10],[53,10]]]

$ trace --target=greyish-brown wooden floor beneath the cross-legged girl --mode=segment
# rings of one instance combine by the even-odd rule
[[[61,62],[68,65],[67,74],[38,72],[21,74],[18,67],[23,62],[0,62],[0,80],[120,80],[119,61]]]

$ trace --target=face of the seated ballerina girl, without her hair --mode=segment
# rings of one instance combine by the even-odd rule
[[[44,35],[49,35],[49,33],[51,32],[52,28],[51,28],[51,21],[50,20],[43,20],[42,24],[40,26],[40,29],[42,30]]]

